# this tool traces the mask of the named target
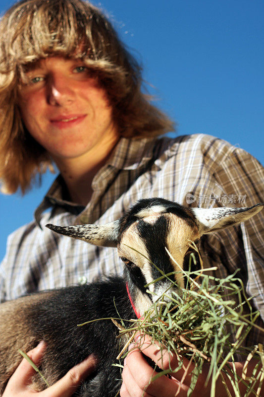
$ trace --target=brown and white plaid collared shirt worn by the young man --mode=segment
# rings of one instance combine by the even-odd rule
[[[136,200],[149,197],[201,207],[251,206],[264,201],[263,181],[264,169],[254,157],[210,135],[121,138],[95,176],[94,193],[85,208],[63,199],[65,187],[59,176],[37,208],[35,221],[9,236],[0,265],[0,301],[122,272],[116,249],[54,234],[46,223],[104,224],[117,219]],[[240,268],[238,276],[248,296],[254,296],[253,305],[262,319],[263,217],[261,211],[246,223],[204,235],[200,243],[204,266],[218,267],[214,275],[226,277]],[[249,343],[260,338],[255,330]]]

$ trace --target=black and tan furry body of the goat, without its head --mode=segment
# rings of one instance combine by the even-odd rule
[[[94,353],[100,358],[95,373],[76,392],[82,397],[115,396],[120,389],[120,368],[112,366],[119,352],[117,327],[111,320],[100,320],[77,327],[87,320],[135,317],[126,283],[122,277],[109,277],[86,285],[65,287],[28,295],[0,305],[0,387],[21,361],[18,348],[30,350],[45,340],[40,370],[52,385],[76,363]],[[120,340],[122,343],[122,340]],[[7,368],[8,365],[8,368]],[[33,388],[47,385],[38,374]]]

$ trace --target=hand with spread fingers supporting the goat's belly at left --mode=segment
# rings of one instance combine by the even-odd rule
[[[38,365],[41,361],[46,345],[42,341],[37,347],[27,354]],[[95,370],[96,358],[93,355],[87,357],[80,364],[71,368],[63,378],[58,380],[43,392],[36,392],[30,387],[30,381],[35,370],[23,358],[11,378],[9,379],[2,397],[70,397],[81,382]]]

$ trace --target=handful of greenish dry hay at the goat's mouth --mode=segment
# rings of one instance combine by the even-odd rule
[[[192,260],[195,261],[194,256]],[[215,268],[208,270],[213,269]],[[180,271],[182,272],[182,269]],[[226,396],[240,397],[240,382],[247,385],[244,397],[260,396],[264,381],[263,345],[259,343],[250,348],[243,347],[243,342],[252,327],[260,328],[254,324],[260,313],[252,311],[242,281],[235,274],[224,279],[215,278],[208,275],[205,269],[185,272],[185,276],[187,286],[181,290],[180,295],[172,291],[164,293],[144,316],[139,320],[132,320],[133,324],[128,329],[119,327],[120,336],[126,334],[129,340],[118,358],[122,356],[136,332],[145,333],[158,341],[161,348],[165,347],[168,352],[174,353],[178,360],[176,369],[161,371],[152,380],[184,368],[183,357],[187,357],[193,363],[188,396],[191,396],[205,362],[210,365],[206,385],[211,382],[211,397],[215,396],[216,381],[219,377]],[[192,278],[194,276],[195,279]],[[162,277],[167,275],[162,274],[159,279]],[[244,314],[245,305],[247,314]],[[232,334],[235,335],[233,343],[230,341]],[[242,378],[238,377],[233,364],[238,361],[237,354],[244,356],[243,361],[246,359]],[[252,376],[247,377],[247,366],[253,356],[257,358],[257,364]],[[187,371],[188,368],[182,382]],[[230,386],[228,389],[226,377],[232,385],[232,390]],[[258,389],[254,391],[256,385]]]

